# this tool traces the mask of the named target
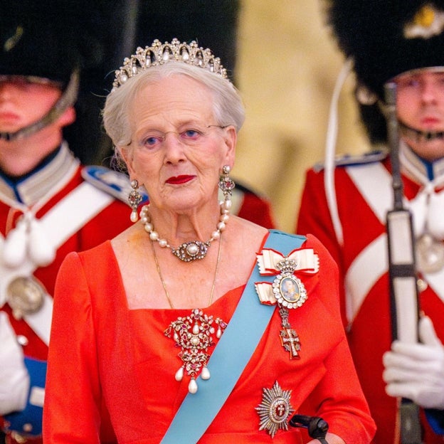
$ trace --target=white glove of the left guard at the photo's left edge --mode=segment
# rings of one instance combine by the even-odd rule
[[[8,315],[0,312],[0,415],[26,407],[29,375],[23,359]]]

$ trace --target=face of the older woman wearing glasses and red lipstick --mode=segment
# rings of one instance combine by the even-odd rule
[[[180,213],[215,199],[223,165],[233,166],[236,130],[216,126],[210,90],[184,75],[149,83],[129,121],[122,155],[153,206]]]

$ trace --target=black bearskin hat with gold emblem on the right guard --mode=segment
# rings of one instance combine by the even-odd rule
[[[384,99],[384,83],[408,70],[444,67],[444,0],[326,0],[327,22],[359,85]],[[372,142],[386,140],[377,105],[360,105]]]

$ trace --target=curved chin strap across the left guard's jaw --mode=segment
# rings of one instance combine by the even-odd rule
[[[60,95],[60,98],[53,105],[51,110],[46,113],[46,115],[44,115],[40,120],[37,120],[37,122],[33,122],[27,127],[18,129],[16,132],[0,132],[0,139],[7,141],[24,139],[25,137],[29,137],[31,134],[34,134],[47,125],[55,122],[58,117],[60,117],[60,115],[62,115],[68,107],[73,105],[77,99],[80,82],[79,78],[80,76],[78,70],[74,70],[71,74],[68,85],[63,91],[63,94]]]

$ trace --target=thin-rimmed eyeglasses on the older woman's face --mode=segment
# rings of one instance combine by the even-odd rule
[[[194,146],[201,144],[203,140],[208,137],[209,132],[213,128],[224,129],[229,125],[189,125],[181,129],[181,131],[166,131],[162,132],[157,129],[150,129],[143,135],[142,139],[138,142],[139,147],[147,148],[150,150],[162,147],[167,134],[176,134],[176,138],[184,145]]]

